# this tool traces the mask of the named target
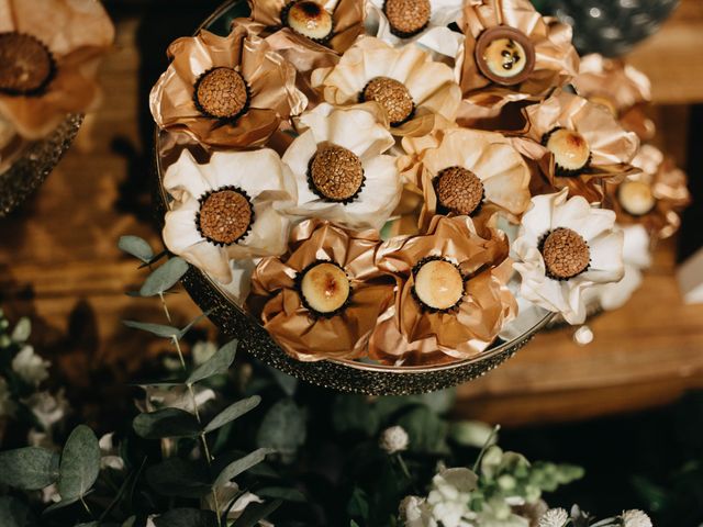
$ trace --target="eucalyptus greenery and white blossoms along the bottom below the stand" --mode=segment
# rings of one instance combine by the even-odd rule
[[[152,268],[140,296],[164,300],[186,270],[178,257],[156,267],[163,254],[141,238],[121,246]],[[578,507],[571,517],[549,509],[544,494],[583,470],[531,463],[496,445],[499,427],[449,421],[451,390],[330,397],[260,365],[234,366],[236,341],[189,341],[196,322],[125,321],[170,341],[177,358],[163,360],[168,380],[137,382],[132,422],[110,419],[118,431],[98,439],[86,425],[68,433],[65,402],[51,421],[34,408],[38,421],[22,416],[15,402],[38,390],[49,363],[27,351],[26,319],[10,332],[0,318],[0,379],[33,386],[0,399],[12,430],[0,437],[3,527],[651,526],[639,511],[594,524]]]

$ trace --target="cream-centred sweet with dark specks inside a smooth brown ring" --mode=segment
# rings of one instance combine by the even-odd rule
[[[499,25],[479,36],[476,64],[491,81],[502,86],[517,85],[526,80],[535,67],[535,48],[521,31]]]

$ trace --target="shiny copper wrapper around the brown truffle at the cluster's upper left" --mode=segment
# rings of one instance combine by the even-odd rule
[[[172,61],[149,97],[160,128],[186,132],[214,147],[261,146],[281,120],[305,109],[308,99],[295,88],[295,68],[263,38],[247,35],[244,27],[234,27],[225,37],[202,30],[171,43]],[[196,108],[196,82],[213,67],[237,69],[249,86],[249,109],[233,123],[207,117]]]

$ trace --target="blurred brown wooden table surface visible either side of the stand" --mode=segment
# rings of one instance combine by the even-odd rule
[[[0,221],[0,305],[13,317],[34,318],[37,348],[85,397],[99,379],[124,396],[123,383],[163,348],[120,323],[164,322],[158,302],[124,295],[142,271],[116,248],[123,234],[159,245],[149,222],[149,153],[140,141],[149,128],[148,86],[137,72],[161,60],[163,46],[147,46],[146,60],[138,29],[134,16],[118,19],[102,109],[87,119],[40,192]],[[658,143],[682,162],[689,112],[681,104],[703,101],[703,64],[689,52],[703,45],[702,30],[703,2],[684,1],[633,56],[661,104],[654,111],[663,131]],[[680,53],[676,60],[672,49]],[[569,329],[542,334],[503,367],[460,386],[457,412],[504,425],[579,419],[665,404],[703,386],[703,305],[682,304],[673,253],[673,243],[661,246],[631,302],[592,321],[593,344],[574,345]],[[178,322],[199,314],[185,293],[169,303]]]

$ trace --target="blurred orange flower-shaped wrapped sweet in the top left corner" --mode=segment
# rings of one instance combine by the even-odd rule
[[[2,173],[68,114],[97,106],[114,27],[98,0],[0,0],[0,19]]]

